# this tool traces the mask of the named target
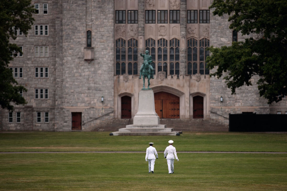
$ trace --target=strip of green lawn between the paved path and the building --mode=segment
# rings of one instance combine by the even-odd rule
[[[172,139],[177,151],[287,151],[287,134],[192,133],[180,136],[109,136],[109,132],[0,133],[4,151],[145,151],[154,142],[164,151]]]

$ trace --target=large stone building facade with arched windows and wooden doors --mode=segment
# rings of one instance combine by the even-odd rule
[[[132,119],[143,86],[140,53],[152,55],[156,112],[161,118],[214,119],[229,113],[286,114],[253,86],[231,95],[205,68],[208,46],[230,46],[228,16],[213,16],[209,0],[32,0],[28,36],[9,64],[28,91],[28,104],[0,110],[2,131],[88,130],[110,119]],[[21,74],[20,74],[21,73]],[[222,97],[222,101],[220,98]]]

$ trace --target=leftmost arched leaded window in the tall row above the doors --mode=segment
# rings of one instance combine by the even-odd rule
[[[116,75],[125,74],[126,42],[119,38],[116,40]]]

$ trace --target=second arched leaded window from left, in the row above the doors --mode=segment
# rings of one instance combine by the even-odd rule
[[[137,40],[131,38],[128,40],[128,74],[137,74]]]

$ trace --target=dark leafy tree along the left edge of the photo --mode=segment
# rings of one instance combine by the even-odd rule
[[[14,109],[11,102],[16,105],[26,103],[19,91],[27,91],[24,86],[18,85],[8,68],[9,62],[13,60],[11,52],[22,53],[10,40],[17,38],[15,29],[20,29],[27,36],[34,21],[34,12],[31,0],[2,0],[0,3],[0,104],[2,108],[10,111]]]

